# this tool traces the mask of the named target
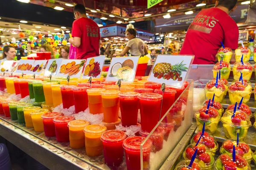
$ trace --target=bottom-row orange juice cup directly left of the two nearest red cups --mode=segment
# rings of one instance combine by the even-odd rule
[[[100,137],[106,130],[107,127],[100,125],[88,125],[84,127],[85,150],[87,156],[93,157],[102,155],[103,144]]]

